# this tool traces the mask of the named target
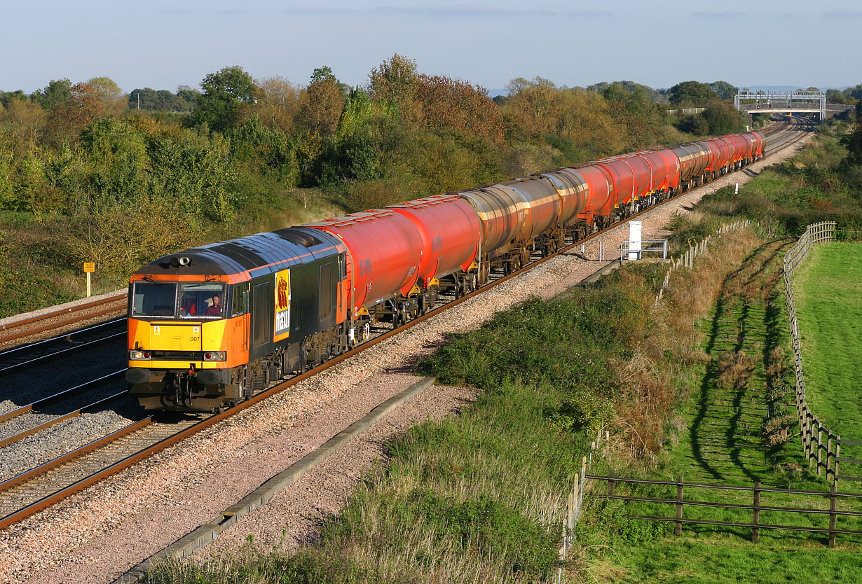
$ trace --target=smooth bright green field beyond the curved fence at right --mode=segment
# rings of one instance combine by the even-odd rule
[[[793,291],[809,406],[832,432],[862,439],[862,245],[815,245]]]

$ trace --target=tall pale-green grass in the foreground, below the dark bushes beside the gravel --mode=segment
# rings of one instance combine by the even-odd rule
[[[365,478],[319,544],[292,555],[249,545],[227,563],[167,565],[147,582],[547,581],[588,447],[547,418],[560,399],[549,386],[485,388],[458,417],[390,444],[388,467]]]

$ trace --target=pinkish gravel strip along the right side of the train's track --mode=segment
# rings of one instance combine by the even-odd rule
[[[769,164],[794,152],[796,148],[791,147],[770,158]],[[749,168],[756,172],[765,165],[759,162]],[[644,238],[664,238],[664,226],[674,214],[690,211],[703,195],[721,186],[749,179],[741,172],[723,177],[641,215]],[[621,224],[587,243],[584,255],[597,258],[598,242],[604,240],[607,257],[613,259],[627,237],[628,228]],[[406,388],[415,381],[408,373],[417,357],[439,345],[445,332],[481,326],[495,312],[533,295],[557,295],[601,265],[574,254],[553,258],[0,531],[0,581],[73,584],[114,580]],[[229,553],[248,534],[261,544],[276,544],[284,529],[284,549],[313,539],[322,519],[338,512],[362,472],[383,456],[385,438],[416,421],[453,413],[471,399],[466,388],[429,388],[269,505],[240,519],[203,554]]]

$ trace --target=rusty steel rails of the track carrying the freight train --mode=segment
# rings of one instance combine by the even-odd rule
[[[802,136],[800,136],[797,140],[801,140],[801,139],[802,139]],[[796,141],[796,140],[793,140],[793,141]],[[784,147],[786,147],[786,146],[782,146],[778,150],[781,150]],[[776,152],[778,152],[778,150]],[[772,153],[774,153],[774,152],[769,152],[769,154],[772,154]],[[766,158],[766,155],[764,158]],[[728,173],[728,174],[732,174],[732,173]],[[722,175],[722,176],[728,176],[728,174]],[[706,186],[706,185],[702,185],[701,187],[698,187],[698,189],[703,188],[703,186]],[[687,191],[687,192],[690,193],[690,192],[694,192],[696,190],[697,189],[691,189],[690,191]],[[635,214],[628,216],[624,221],[630,221],[634,217],[638,217],[641,214],[646,214],[655,208],[659,208],[660,206],[664,205],[665,203],[668,203],[668,202],[671,202],[671,201],[678,199],[679,196],[681,196],[681,195],[682,194],[680,194],[678,196],[673,196],[673,197],[666,199],[665,201],[659,202],[659,203],[657,203],[657,204],[655,204],[649,208],[642,209],[638,213],[635,213]],[[98,481],[103,480],[104,478],[108,477],[109,475],[113,475],[113,474],[120,472],[121,470],[124,470],[124,469],[128,469],[128,467],[132,466],[134,463],[137,463],[141,460],[144,460],[147,457],[151,457],[151,456],[153,456],[153,454],[156,454],[157,452],[159,452],[161,450],[165,450],[166,448],[172,446],[173,444],[177,444],[178,442],[181,442],[185,438],[189,438],[190,436],[192,436],[193,434],[195,434],[197,432],[200,432],[206,428],[209,428],[210,426],[214,426],[215,424],[222,422],[223,420],[234,416],[236,413],[239,413],[239,412],[247,409],[248,407],[252,407],[252,406],[258,404],[260,401],[264,401],[264,400],[272,397],[272,395],[276,395],[278,393],[281,393],[285,389],[291,388],[294,385],[297,385],[297,383],[303,382],[304,380],[308,379],[311,376],[315,376],[318,373],[321,373],[322,371],[328,370],[329,368],[334,367],[335,365],[337,365],[337,364],[339,364],[339,363],[341,363],[341,362],[343,362],[343,361],[345,361],[351,357],[355,357],[361,351],[365,351],[367,349],[370,349],[373,346],[378,345],[378,343],[382,343],[384,340],[390,339],[391,337],[395,336],[396,334],[403,332],[403,331],[406,331],[407,329],[411,328],[412,326],[417,326],[417,325],[421,324],[422,322],[424,322],[425,320],[433,318],[434,316],[441,314],[442,312],[448,310],[449,308],[453,308],[455,306],[458,306],[462,302],[471,300],[475,296],[480,295],[480,294],[484,293],[485,291],[487,291],[491,288],[494,288],[495,286],[497,286],[503,282],[506,282],[515,276],[520,276],[523,273],[526,273],[528,270],[532,270],[536,266],[543,264],[547,260],[558,257],[559,255],[562,255],[565,252],[569,252],[572,249],[574,249],[577,245],[581,245],[585,241],[588,241],[590,239],[594,239],[594,238],[598,237],[599,235],[605,234],[610,229],[613,229],[614,227],[618,227],[620,223],[622,223],[622,221],[616,221],[614,224],[609,225],[608,227],[605,227],[602,231],[599,231],[597,233],[590,233],[590,235],[584,237],[584,239],[578,239],[578,241],[573,242],[571,245],[566,245],[566,246],[560,248],[559,250],[557,250],[556,252],[553,252],[552,254],[545,256],[544,258],[539,258],[530,264],[522,266],[522,268],[519,270],[516,270],[516,271],[514,271],[508,275],[497,278],[493,282],[486,283],[481,288],[473,290],[469,294],[463,295],[457,299],[454,299],[453,301],[448,301],[447,303],[428,311],[427,314],[423,314],[422,316],[419,316],[418,318],[416,318],[414,320],[409,320],[409,322],[405,323],[403,326],[399,326],[398,328],[391,329],[390,331],[384,332],[384,333],[378,335],[377,337],[375,337],[373,339],[369,339],[368,341],[365,341],[364,343],[362,343],[362,345],[359,345],[359,346],[353,348],[351,351],[347,351],[346,353],[343,353],[337,357],[329,359],[327,362],[322,363],[321,365],[315,367],[315,369],[308,370],[308,371],[305,371],[305,372],[303,372],[297,376],[291,377],[289,380],[284,381],[284,382],[280,382],[277,385],[273,386],[272,388],[267,388],[267,389],[259,392],[259,394],[253,395],[247,401],[242,401],[242,402],[240,402],[240,404],[238,404],[234,407],[231,407],[222,413],[215,413],[215,414],[209,416],[207,419],[203,419],[202,421],[198,422],[197,424],[195,424],[193,426],[189,426],[188,428],[185,428],[184,430],[177,432],[176,434],[173,434],[169,438],[165,438],[156,444],[153,444],[151,446],[148,446],[145,449],[140,450],[139,452],[137,452],[134,455],[131,455],[129,457],[122,459],[122,461],[119,461],[117,463],[113,463],[109,467],[102,469],[102,470],[98,471],[97,473],[94,473],[90,476],[87,476],[84,479],[81,479],[80,481],[77,481],[74,484],[67,486],[66,488],[59,489],[54,494],[50,494],[41,500],[38,500],[38,501],[28,505],[28,506],[25,506],[24,508],[20,509],[19,511],[17,511],[15,513],[10,513],[6,517],[0,519],[0,529],[3,529],[4,527],[7,527],[9,525],[12,525],[12,524],[16,523],[17,521],[20,521],[21,519],[28,517],[29,515],[32,515],[34,513],[38,513],[39,511],[47,508],[48,506],[53,505],[53,503],[56,503],[59,500],[63,500],[66,497],[71,496],[72,494],[78,493],[79,491],[83,490],[84,488],[87,488],[87,487],[97,483]],[[85,452],[90,452],[92,450],[96,450],[97,448],[99,448],[105,444],[109,444],[110,442],[113,442],[118,438],[122,438],[122,436],[128,436],[129,434],[135,432],[137,429],[140,429],[141,427],[146,426],[147,424],[151,423],[151,421],[152,421],[152,416],[147,417],[145,419],[142,419],[141,421],[136,422],[131,426],[127,426],[127,428],[123,428],[121,430],[118,430],[116,432],[109,434],[106,437],[103,437],[103,438],[100,438],[94,442],[91,442],[91,444],[86,444],[86,445],[82,446],[81,448],[78,448],[76,450],[72,450],[72,452],[67,453],[63,457],[59,457],[59,458],[55,459],[54,461],[44,463],[40,467],[37,467],[36,469],[32,469],[32,470],[28,471],[27,473],[23,473],[22,475],[18,475],[16,477],[13,477],[13,478],[9,479],[8,481],[3,481],[2,483],[0,483],[0,491],[12,488],[12,487],[17,486],[17,485],[20,485],[23,482],[26,482],[28,480],[32,480],[36,476],[44,474],[50,469],[57,468],[62,463],[69,462],[73,458],[82,456]],[[122,434],[121,434],[121,432],[122,432]],[[63,462],[57,462],[57,461],[63,461]]]

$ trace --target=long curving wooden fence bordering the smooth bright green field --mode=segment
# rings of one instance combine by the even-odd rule
[[[841,457],[841,444],[862,446],[862,441],[848,440],[829,430],[815,416],[805,399],[805,377],[803,376],[803,353],[799,342],[799,325],[796,321],[796,301],[793,298],[793,276],[796,269],[808,257],[815,245],[832,241],[835,237],[835,222],[823,221],[808,226],[796,245],[784,256],[784,299],[787,301],[787,317],[790,320],[790,340],[793,344],[794,372],[796,374],[796,416],[799,419],[805,457],[809,467],[816,467],[817,475],[825,471],[827,478],[836,481],[862,481],[862,477],[840,475],[840,463],[862,464],[862,460]]]

